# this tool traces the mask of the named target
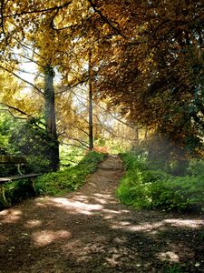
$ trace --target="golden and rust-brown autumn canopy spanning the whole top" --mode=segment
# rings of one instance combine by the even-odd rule
[[[19,78],[26,59],[37,66],[44,83],[30,86],[43,96],[37,99],[56,143],[60,94],[92,80],[95,99],[120,106],[134,126],[158,130],[192,151],[203,147],[203,1],[8,0],[0,10],[0,68]],[[25,101],[13,106],[29,112]]]

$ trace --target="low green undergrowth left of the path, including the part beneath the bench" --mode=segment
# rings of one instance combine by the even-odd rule
[[[95,171],[103,157],[104,154],[92,151],[74,167],[66,167],[35,178],[37,195],[57,196],[81,187],[85,177]],[[34,190],[27,179],[5,184],[5,197],[10,206],[32,196],[34,196]],[[4,207],[5,202],[0,199],[0,209]]]

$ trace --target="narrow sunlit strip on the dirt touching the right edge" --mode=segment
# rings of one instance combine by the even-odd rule
[[[163,222],[170,224],[173,227],[199,228],[204,226],[204,220],[196,219],[166,219]]]

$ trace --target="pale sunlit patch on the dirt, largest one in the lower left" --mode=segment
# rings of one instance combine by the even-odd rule
[[[66,230],[42,230],[34,232],[33,234],[34,245],[36,247],[44,247],[53,243],[54,241],[62,238],[71,238],[71,233]]]

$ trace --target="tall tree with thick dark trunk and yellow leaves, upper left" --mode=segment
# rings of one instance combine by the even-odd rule
[[[44,97],[46,131],[52,138],[50,159],[53,169],[59,166],[59,142],[53,88],[54,69],[61,71],[67,85],[72,86],[72,82],[73,85],[76,81],[81,82],[79,74],[74,75],[72,69],[82,66],[76,62],[77,58],[73,51],[76,47],[74,39],[79,36],[78,25],[82,25],[80,21],[84,9],[86,10],[86,7],[81,1],[61,1],[58,5],[55,4],[55,1],[49,3],[30,1],[28,5],[25,5],[24,1],[7,1],[6,5],[1,6],[1,26],[5,44],[18,48],[25,44],[25,47],[34,48],[34,54],[30,59],[37,64],[44,75],[44,88],[37,87],[35,90]],[[25,43],[22,42],[23,39]],[[76,48],[76,51],[78,50]],[[73,64],[71,59],[74,59]],[[9,61],[11,61],[10,53]],[[14,74],[13,69],[10,69],[10,72]],[[34,86],[31,83],[30,85]]]

